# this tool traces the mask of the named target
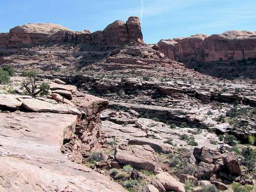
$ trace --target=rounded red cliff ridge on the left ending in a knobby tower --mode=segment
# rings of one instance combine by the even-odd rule
[[[72,42],[77,44],[125,45],[137,38],[143,39],[138,17],[129,17],[126,23],[117,20],[103,31],[74,32],[60,25],[27,24],[17,26],[9,33],[0,33],[0,47],[36,46],[47,43]]]

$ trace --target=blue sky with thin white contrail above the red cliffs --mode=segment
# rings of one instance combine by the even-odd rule
[[[46,22],[93,32],[132,15],[142,15],[147,43],[196,33],[256,31],[256,0],[1,0],[0,32]]]

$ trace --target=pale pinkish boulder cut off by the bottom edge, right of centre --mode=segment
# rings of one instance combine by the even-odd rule
[[[156,178],[162,183],[165,190],[173,190],[175,192],[185,192],[184,185],[170,176],[167,172],[156,175]]]

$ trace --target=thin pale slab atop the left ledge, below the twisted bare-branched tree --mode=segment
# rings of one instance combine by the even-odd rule
[[[69,104],[53,104],[46,101],[41,101],[38,99],[20,99],[22,105],[31,111],[35,112],[52,112],[52,113],[62,113],[62,114],[74,114],[81,115],[81,112],[77,110],[74,106]]]

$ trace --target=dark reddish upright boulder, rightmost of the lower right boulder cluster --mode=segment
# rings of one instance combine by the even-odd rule
[[[223,156],[224,167],[229,170],[231,174],[241,175],[241,168],[237,155],[234,152],[230,152]]]

